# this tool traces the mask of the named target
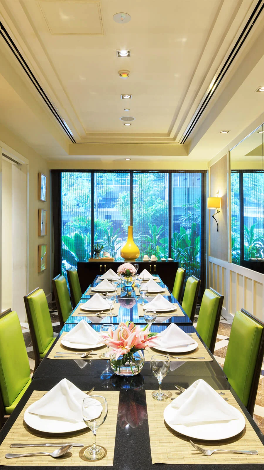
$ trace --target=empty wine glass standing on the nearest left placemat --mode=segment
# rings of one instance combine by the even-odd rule
[[[82,403],[83,420],[93,433],[93,444],[84,451],[88,460],[99,460],[106,454],[106,449],[96,445],[96,431],[104,423],[107,412],[107,401],[101,395],[89,395]]]

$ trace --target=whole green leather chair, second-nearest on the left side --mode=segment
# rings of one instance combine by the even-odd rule
[[[24,297],[24,303],[35,356],[35,372],[55,338],[44,290],[39,288],[32,290]]]

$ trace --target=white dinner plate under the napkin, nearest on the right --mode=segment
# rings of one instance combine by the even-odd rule
[[[195,426],[186,426],[184,424],[170,424],[172,403],[164,409],[163,417],[165,423],[174,431],[199,440],[222,440],[236,436],[243,431],[245,427],[245,418],[239,410],[237,411],[238,419],[233,419],[228,423],[206,423],[197,424]]]

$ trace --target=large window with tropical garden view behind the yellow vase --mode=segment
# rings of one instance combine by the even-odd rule
[[[62,172],[62,272],[101,243],[116,261],[127,227],[144,254],[200,276],[202,172]],[[93,201],[93,205],[92,205]]]

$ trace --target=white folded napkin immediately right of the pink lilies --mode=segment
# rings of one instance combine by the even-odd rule
[[[161,333],[157,335],[157,339],[153,339],[153,343],[156,341],[156,346],[162,346],[164,349],[174,349],[176,347],[193,345],[196,343],[193,338],[186,335],[186,333],[175,325],[171,323],[168,328],[164,329]]]

